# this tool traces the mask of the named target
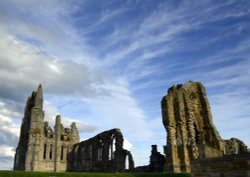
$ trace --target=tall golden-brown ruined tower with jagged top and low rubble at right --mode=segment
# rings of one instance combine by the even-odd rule
[[[194,159],[247,152],[240,140],[222,140],[201,83],[189,81],[169,88],[161,107],[167,131],[164,171],[190,172],[190,161]],[[231,151],[231,146],[237,150]]]

